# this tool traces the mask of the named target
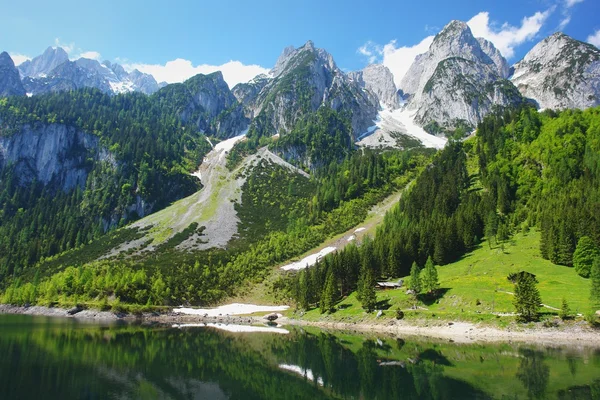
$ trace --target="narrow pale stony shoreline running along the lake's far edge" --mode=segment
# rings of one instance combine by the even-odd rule
[[[90,322],[141,322],[149,324],[182,324],[182,323],[222,323],[222,324],[265,324],[263,315],[224,315],[224,316],[199,316],[174,313],[143,313],[115,314],[111,311],[83,310],[74,315],[69,315],[67,309],[49,308],[43,306],[13,306],[0,304],[0,314],[17,314],[59,317]],[[266,314],[266,313],[265,313]],[[561,328],[527,328],[499,329],[481,326],[471,322],[440,321],[408,323],[406,321],[384,320],[381,323],[349,323],[331,321],[307,321],[282,317],[277,323],[290,326],[310,326],[323,330],[346,331],[363,334],[385,334],[395,337],[418,337],[420,339],[448,340],[460,344],[477,343],[529,343],[544,346],[576,346],[600,348],[600,330],[587,327],[584,323]]]

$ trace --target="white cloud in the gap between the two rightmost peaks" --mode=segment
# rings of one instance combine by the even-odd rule
[[[489,40],[500,50],[504,57],[510,59],[515,54],[515,47],[535,38],[553,11],[554,7],[544,12],[538,11],[530,17],[524,17],[521,20],[520,27],[505,22],[500,28],[496,28],[496,24],[490,23],[488,12],[480,12],[471,18],[467,24],[475,37],[483,37]]]

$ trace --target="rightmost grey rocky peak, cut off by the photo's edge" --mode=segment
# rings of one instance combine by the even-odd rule
[[[563,33],[542,40],[515,64],[512,82],[540,108],[600,104],[600,50]]]

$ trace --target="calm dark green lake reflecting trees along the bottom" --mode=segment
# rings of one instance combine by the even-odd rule
[[[138,398],[600,399],[600,351],[0,315],[0,399]]]

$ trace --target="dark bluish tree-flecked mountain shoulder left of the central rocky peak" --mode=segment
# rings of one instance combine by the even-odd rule
[[[155,95],[164,104],[175,107],[183,122],[195,123],[207,135],[230,138],[250,123],[220,71],[168,85]]]

